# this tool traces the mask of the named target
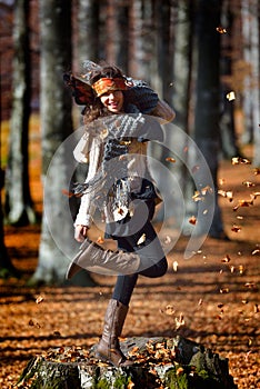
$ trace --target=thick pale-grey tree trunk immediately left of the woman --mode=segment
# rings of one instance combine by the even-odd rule
[[[64,29],[66,26],[66,29]],[[72,150],[71,96],[62,73],[71,62],[71,4],[62,0],[40,2],[41,29],[41,128],[44,203],[39,262],[30,283],[62,283],[78,243],[69,190],[76,161]],[[86,272],[86,286],[93,285]]]

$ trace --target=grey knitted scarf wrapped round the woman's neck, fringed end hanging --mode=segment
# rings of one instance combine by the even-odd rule
[[[112,114],[99,118],[88,128],[103,143],[103,160],[98,173],[88,182],[76,183],[72,192],[83,196],[94,190],[97,206],[103,207],[108,200],[111,187],[128,174],[128,143],[131,138],[138,141],[162,140],[162,129],[159,122],[142,113]],[[122,156],[126,156],[122,158]],[[117,190],[117,188],[114,188]],[[98,196],[97,196],[98,193]]]

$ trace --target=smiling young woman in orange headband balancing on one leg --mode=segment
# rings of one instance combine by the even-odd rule
[[[148,141],[157,134],[160,138],[161,133],[159,120],[153,117],[171,121],[174,112],[146,83],[129,82],[114,66],[97,66],[89,83],[93,93],[88,90],[83,111],[86,133],[74,150],[79,161],[88,159],[89,163],[74,221],[74,238],[82,245],[67,277],[91,266],[117,271],[96,353],[97,358],[119,367],[132,363],[120,350],[118,338],[138,277],[161,277],[168,267],[151,225],[158,194],[146,153]],[[83,94],[84,88],[81,88],[78,100]],[[88,239],[98,198],[102,199],[98,203],[106,215],[106,236],[117,240],[117,252],[103,250]]]

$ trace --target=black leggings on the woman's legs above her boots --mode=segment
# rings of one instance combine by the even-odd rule
[[[128,237],[117,237],[118,248],[120,250],[128,252],[134,251],[141,259],[140,271],[134,275],[118,276],[117,278],[112,298],[124,306],[128,306],[130,302],[139,275],[157,278],[162,277],[168,269],[167,259],[150,221],[154,212],[154,201],[146,203],[149,209],[149,219],[144,226],[137,233]],[[138,245],[138,240],[143,235],[146,236],[143,243]]]

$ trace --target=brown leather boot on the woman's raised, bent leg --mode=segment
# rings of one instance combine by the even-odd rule
[[[104,250],[87,238],[70,263],[66,278],[72,278],[82,268],[96,266],[111,270],[113,275],[131,275],[138,271],[140,258],[134,252]]]

